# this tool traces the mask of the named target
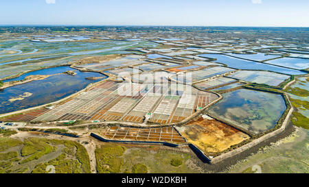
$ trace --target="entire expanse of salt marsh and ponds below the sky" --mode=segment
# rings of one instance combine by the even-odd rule
[[[308,33],[0,27],[0,173],[309,173]]]

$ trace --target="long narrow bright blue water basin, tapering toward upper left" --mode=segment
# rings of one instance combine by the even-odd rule
[[[201,57],[206,58],[216,58],[217,60],[214,62],[220,62],[223,64],[227,64],[227,66],[231,68],[238,69],[251,69],[251,70],[266,70],[273,71],[277,73],[284,73],[288,75],[304,75],[305,72],[297,71],[289,68],[282,68],[278,66],[273,66],[271,64],[262,64],[260,62],[253,62],[250,60],[242,60],[238,58],[233,58],[227,55],[219,55],[219,54],[201,54]]]

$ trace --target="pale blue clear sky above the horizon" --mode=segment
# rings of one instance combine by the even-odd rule
[[[308,0],[1,0],[0,25],[309,27]]]

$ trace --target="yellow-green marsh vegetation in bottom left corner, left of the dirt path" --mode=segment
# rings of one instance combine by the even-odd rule
[[[14,151],[3,152],[13,147],[16,147]],[[78,142],[34,137],[22,142],[0,138],[0,173],[47,173],[48,165],[55,166],[56,173],[91,173],[87,150]],[[28,166],[34,169],[29,171]]]

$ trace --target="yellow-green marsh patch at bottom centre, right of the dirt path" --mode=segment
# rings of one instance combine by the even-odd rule
[[[104,143],[95,150],[98,173],[196,173],[190,154],[159,146]],[[174,165],[173,165],[174,164]]]

